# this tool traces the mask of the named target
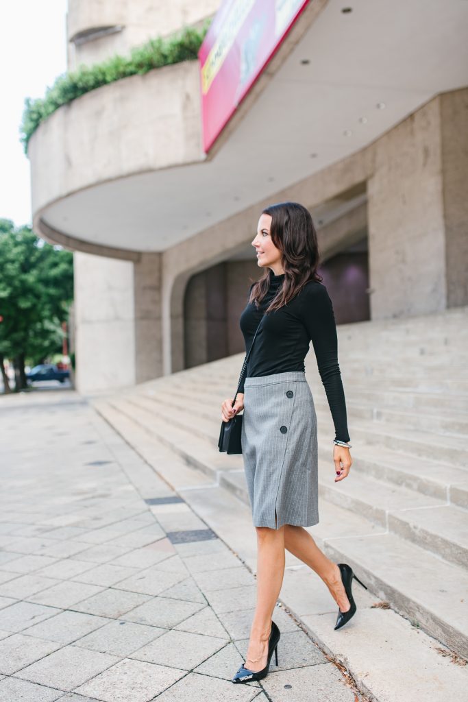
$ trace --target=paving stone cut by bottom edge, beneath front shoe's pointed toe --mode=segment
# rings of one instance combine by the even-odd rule
[[[189,675],[185,675],[182,680],[176,682],[175,685],[172,685],[172,687],[159,695],[157,701],[181,702],[182,700],[194,700],[194,702],[201,702],[210,700],[210,702],[250,702],[258,695],[259,691],[260,684],[258,682],[234,685],[230,680],[221,680],[219,677],[189,673]],[[278,696],[276,699],[278,702],[286,701],[285,696]]]

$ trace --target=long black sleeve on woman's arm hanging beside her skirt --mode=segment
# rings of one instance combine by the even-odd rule
[[[314,346],[320,377],[335,425],[335,439],[348,442],[345,391],[337,357],[333,305],[323,284],[309,284],[302,296],[302,321]]]

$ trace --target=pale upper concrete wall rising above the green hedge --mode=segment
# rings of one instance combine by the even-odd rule
[[[69,0],[67,34],[68,65],[92,64],[148,39],[172,34],[184,25],[196,25],[213,15],[220,0]],[[118,31],[93,39],[91,30],[116,27]],[[86,39],[88,41],[73,41]]]

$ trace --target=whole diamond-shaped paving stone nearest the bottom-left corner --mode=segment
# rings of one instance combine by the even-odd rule
[[[102,670],[117,663],[117,656],[88,651],[76,646],[65,646],[41,661],[20,670],[17,677],[60,690],[72,691]]]

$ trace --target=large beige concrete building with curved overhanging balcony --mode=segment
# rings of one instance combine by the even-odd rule
[[[69,0],[69,67],[219,5]],[[34,229],[75,252],[78,390],[241,352],[260,274],[250,241],[261,209],[286,199],[312,212],[338,324],[467,305],[467,25],[464,0],[312,0],[208,153],[197,61],[41,124]]]

